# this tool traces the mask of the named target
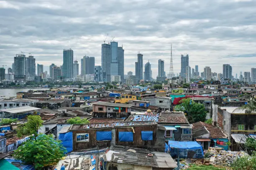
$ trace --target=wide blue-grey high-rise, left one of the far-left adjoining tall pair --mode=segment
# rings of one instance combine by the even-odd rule
[[[15,77],[24,77],[25,76],[25,66],[26,66],[26,55],[16,54],[16,57],[14,57]]]

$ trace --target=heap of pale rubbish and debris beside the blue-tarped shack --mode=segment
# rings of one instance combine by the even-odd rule
[[[221,166],[231,166],[231,164],[240,157],[248,155],[243,151],[232,152],[230,150],[216,150],[215,148],[210,148],[206,153],[205,157],[210,158],[210,164],[221,165]]]

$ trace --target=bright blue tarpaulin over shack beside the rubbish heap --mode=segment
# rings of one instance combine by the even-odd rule
[[[202,146],[195,141],[179,142],[169,140],[168,147],[172,157],[177,156],[179,153],[179,158],[204,158]]]

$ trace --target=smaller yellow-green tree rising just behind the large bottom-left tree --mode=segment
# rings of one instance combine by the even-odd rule
[[[17,135],[18,137],[21,137],[23,135],[32,135],[33,138],[36,140],[36,137],[38,136],[38,129],[42,126],[43,120],[41,120],[41,117],[38,115],[29,115],[28,116],[28,122],[26,122],[24,125],[19,125],[17,128]]]

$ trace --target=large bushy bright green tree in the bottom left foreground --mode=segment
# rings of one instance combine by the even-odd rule
[[[14,158],[41,170],[45,166],[57,163],[63,156],[65,148],[60,140],[54,140],[52,135],[41,134],[37,140],[31,139],[14,151]]]

